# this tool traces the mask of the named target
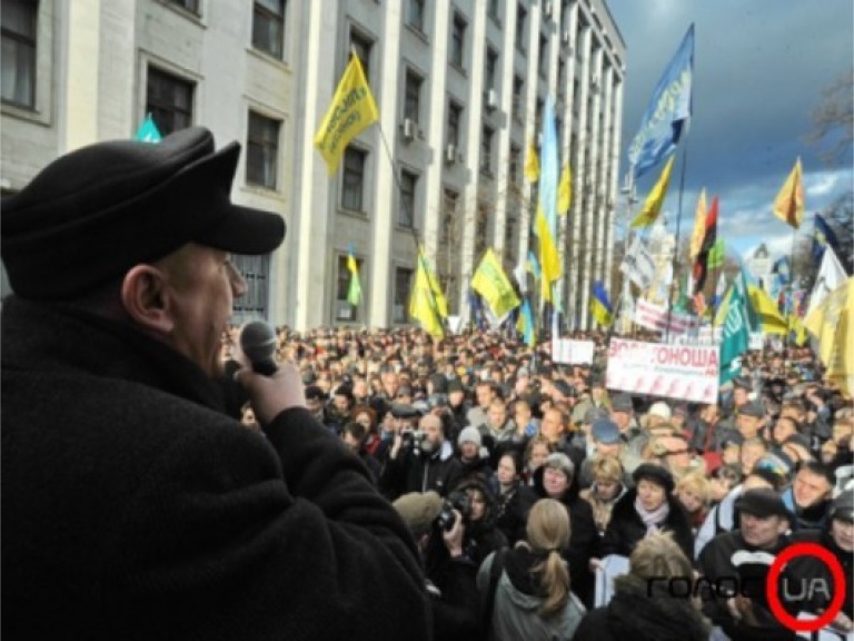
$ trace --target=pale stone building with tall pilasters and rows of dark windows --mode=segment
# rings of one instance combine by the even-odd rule
[[[604,0],[2,0],[1,16],[3,193],[149,114],[163,134],[242,142],[232,196],[288,234],[269,258],[238,257],[238,319],[408,324],[418,241],[465,317],[486,248],[509,274],[536,247],[524,165],[547,98],[574,177],[567,324],[588,327],[590,284],[609,286],[625,46]],[[379,121],[329,176],[312,139],[351,51]]]

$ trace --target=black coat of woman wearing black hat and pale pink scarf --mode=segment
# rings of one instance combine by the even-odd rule
[[[646,536],[646,525],[635,510],[635,499],[637,499],[637,489],[633,487],[614,504],[614,511],[610,513],[610,521],[600,544],[603,556],[608,554],[628,556],[635,549],[635,544]],[[673,540],[685,552],[685,556],[693,559],[694,535],[688,516],[682,504],[672,495],[667,496],[667,503],[671,511],[658,527],[663,532],[673,532]]]

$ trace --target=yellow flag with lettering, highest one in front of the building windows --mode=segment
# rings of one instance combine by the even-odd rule
[[[332,103],[315,134],[315,147],[326,161],[329,176],[336,172],[344,150],[366,127],[379,119],[359,57],[355,53],[344,70]]]

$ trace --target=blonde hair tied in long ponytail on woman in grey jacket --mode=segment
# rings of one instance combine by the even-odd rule
[[[569,600],[569,570],[560,556],[560,550],[569,545],[569,512],[554,499],[540,499],[530,509],[526,533],[532,550],[546,553],[533,572],[539,574],[546,593],[538,613],[549,617]]]

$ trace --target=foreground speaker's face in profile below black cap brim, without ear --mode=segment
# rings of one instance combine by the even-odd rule
[[[171,346],[216,378],[224,373],[220,341],[228,332],[234,299],[246,293],[246,282],[219,249],[185,245],[153,265],[165,279],[172,323]]]

